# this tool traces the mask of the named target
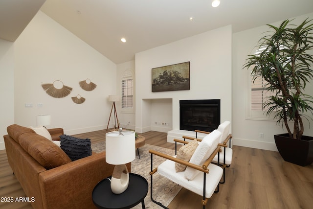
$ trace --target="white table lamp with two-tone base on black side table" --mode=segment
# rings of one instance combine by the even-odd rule
[[[111,189],[114,194],[124,192],[129,184],[129,173],[126,163],[134,161],[135,152],[134,131],[113,131],[106,134],[106,162],[115,165]]]

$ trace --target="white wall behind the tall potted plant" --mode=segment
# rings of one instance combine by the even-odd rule
[[[299,24],[306,18],[313,18],[313,13],[297,17],[292,23]],[[282,22],[282,21],[281,21]],[[281,22],[271,23],[279,26]],[[232,56],[232,90],[233,90],[233,123],[232,135],[234,144],[240,146],[254,147],[260,149],[277,151],[274,137],[275,134],[286,133],[281,126],[276,125],[276,121],[269,120],[250,120],[246,119],[246,109],[248,108],[248,84],[249,74],[247,70],[243,70],[248,54],[253,53],[253,48],[264,32],[268,31],[267,25],[252,28],[242,32],[233,34],[233,56]],[[313,95],[313,82],[308,84],[307,93]],[[305,135],[313,136],[313,129],[309,129],[307,121]],[[311,125],[313,123],[311,122]],[[259,138],[259,134],[264,133],[264,139]]]

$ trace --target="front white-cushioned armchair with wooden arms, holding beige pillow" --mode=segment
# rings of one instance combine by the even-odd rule
[[[176,156],[168,156],[163,153],[149,150],[151,153],[151,200],[159,206],[167,209],[164,205],[153,199],[153,174],[158,172],[161,176],[179,184],[180,186],[196,193],[202,198],[203,209],[214,192],[219,191],[219,183],[223,176],[223,168],[219,165],[212,164],[215,155],[221,150],[219,139],[221,132],[214,130],[201,140],[189,162],[176,158]],[[176,142],[187,144],[187,141],[174,139]],[[157,155],[167,159],[165,162],[153,169],[153,155]],[[175,163],[186,165],[186,170],[176,172]]]

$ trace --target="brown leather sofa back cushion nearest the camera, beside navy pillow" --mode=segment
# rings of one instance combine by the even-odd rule
[[[36,133],[25,133],[20,136],[19,140],[22,148],[45,169],[71,162],[60,147]]]

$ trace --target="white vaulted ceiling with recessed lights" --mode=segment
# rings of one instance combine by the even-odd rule
[[[21,24],[30,21],[22,13],[33,17],[44,2],[47,16],[119,64],[134,60],[137,52],[229,24],[238,32],[313,12],[313,0],[220,1],[213,8],[212,0],[1,0],[0,38],[15,41],[3,38],[3,31],[18,27],[19,18]]]

